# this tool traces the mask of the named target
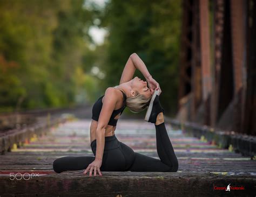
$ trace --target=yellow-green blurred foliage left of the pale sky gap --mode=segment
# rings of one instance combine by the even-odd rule
[[[78,95],[80,103],[89,102],[85,95],[93,93],[96,79],[80,78],[90,67],[84,57],[91,13],[83,4],[0,1],[1,111],[63,107],[76,104]]]

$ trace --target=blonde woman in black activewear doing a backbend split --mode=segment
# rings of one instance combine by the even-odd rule
[[[136,68],[142,72],[147,82],[137,76],[133,78]],[[60,173],[85,169],[84,174],[90,172],[90,176],[92,172],[94,175],[98,172],[101,176],[100,171],[177,172],[178,160],[165,128],[164,109],[159,102],[160,93],[159,83],[152,78],[144,62],[136,53],[130,55],[119,86],[107,88],[105,95],[93,105],[90,140],[95,157],[58,158],[53,162],[53,170]],[[160,160],[134,152],[116,138],[116,124],[126,106],[132,112],[147,108],[145,121],[154,123],[156,127]]]

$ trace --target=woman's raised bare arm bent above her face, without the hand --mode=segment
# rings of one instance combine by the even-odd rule
[[[150,73],[147,71],[146,65],[136,53],[132,53],[125,64],[119,84],[132,80],[136,68],[143,74],[146,80],[148,79],[147,77],[150,75]]]

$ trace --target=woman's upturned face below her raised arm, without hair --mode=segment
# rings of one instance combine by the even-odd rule
[[[138,78],[138,76],[132,79],[131,87],[134,92],[137,91],[139,94],[142,94],[147,98],[151,97],[151,91],[147,87],[147,82]]]

